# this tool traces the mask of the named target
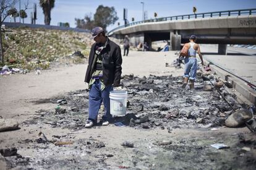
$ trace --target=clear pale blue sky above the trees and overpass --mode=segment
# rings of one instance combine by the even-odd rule
[[[43,10],[39,6],[39,0],[17,0],[16,8],[19,11],[19,1],[21,9],[28,1],[27,19],[24,23],[30,23],[30,13],[33,12],[33,4],[37,6],[37,24],[44,24]],[[142,3],[143,2],[143,3]],[[123,11],[128,10],[128,20],[135,22],[142,20],[142,9],[147,11],[148,19],[154,18],[154,12],[158,17],[169,17],[174,15],[193,14],[193,7],[197,7],[197,13],[228,11],[236,9],[256,9],[256,0],[55,0],[55,6],[51,11],[51,25],[58,25],[58,22],[69,22],[70,27],[76,27],[75,18],[83,19],[85,15],[95,14],[96,8],[100,5],[114,7],[117,12],[120,25],[124,25]],[[9,22],[7,18],[5,22]],[[13,21],[13,20],[12,20]],[[19,18],[16,20],[19,22]],[[107,31],[118,27],[117,22],[109,25]]]

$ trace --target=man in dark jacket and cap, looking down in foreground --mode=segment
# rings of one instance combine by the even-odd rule
[[[103,101],[105,115],[103,124],[108,125],[112,118],[109,108],[109,91],[120,85],[122,73],[121,49],[109,40],[103,28],[95,27],[92,38],[96,42],[92,45],[85,82],[89,84],[89,117],[85,127],[93,127],[97,123],[98,111]]]

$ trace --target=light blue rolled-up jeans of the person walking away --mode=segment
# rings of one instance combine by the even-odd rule
[[[197,58],[196,57],[186,57],[184,77],[189,77],[190,80],[195,80],[195,75],[197,74]]]

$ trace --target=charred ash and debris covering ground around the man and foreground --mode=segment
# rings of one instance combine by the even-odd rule
[[[214,82],[215,79],[211,77]],[[38,110],[22,127],[32,127],[18,143],[1,150],[14,169],[255,169],[255,135],[225,126],[233,109],[247,108],[220,87],[205,91],[200,72],[195,90],[182,77],[124,75],[127,114],[108,127],[85,129],[88,90],[33,101],[54,103]],[[100,109],[100,116],[103,108]],[[239,127],[242,128],[242,127]],[[36,130],[35,130],[36,129]],[[1,139],[4,141],[4,139]],[[211,145],[221,144],[220,149]],[[22,153],[22,154],[19,154]]]

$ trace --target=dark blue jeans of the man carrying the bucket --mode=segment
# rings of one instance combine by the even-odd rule
[[[89,120],[93,121],[94,124],[97,123],[98,112],[103,101],[105,114],[103,120],[109,121],[112,118],[110,114],[110,101],[109,101],[109,91],[113,90],[112,85],[108,85],[101,91],[100,79],[95,80],[89,91]]]

